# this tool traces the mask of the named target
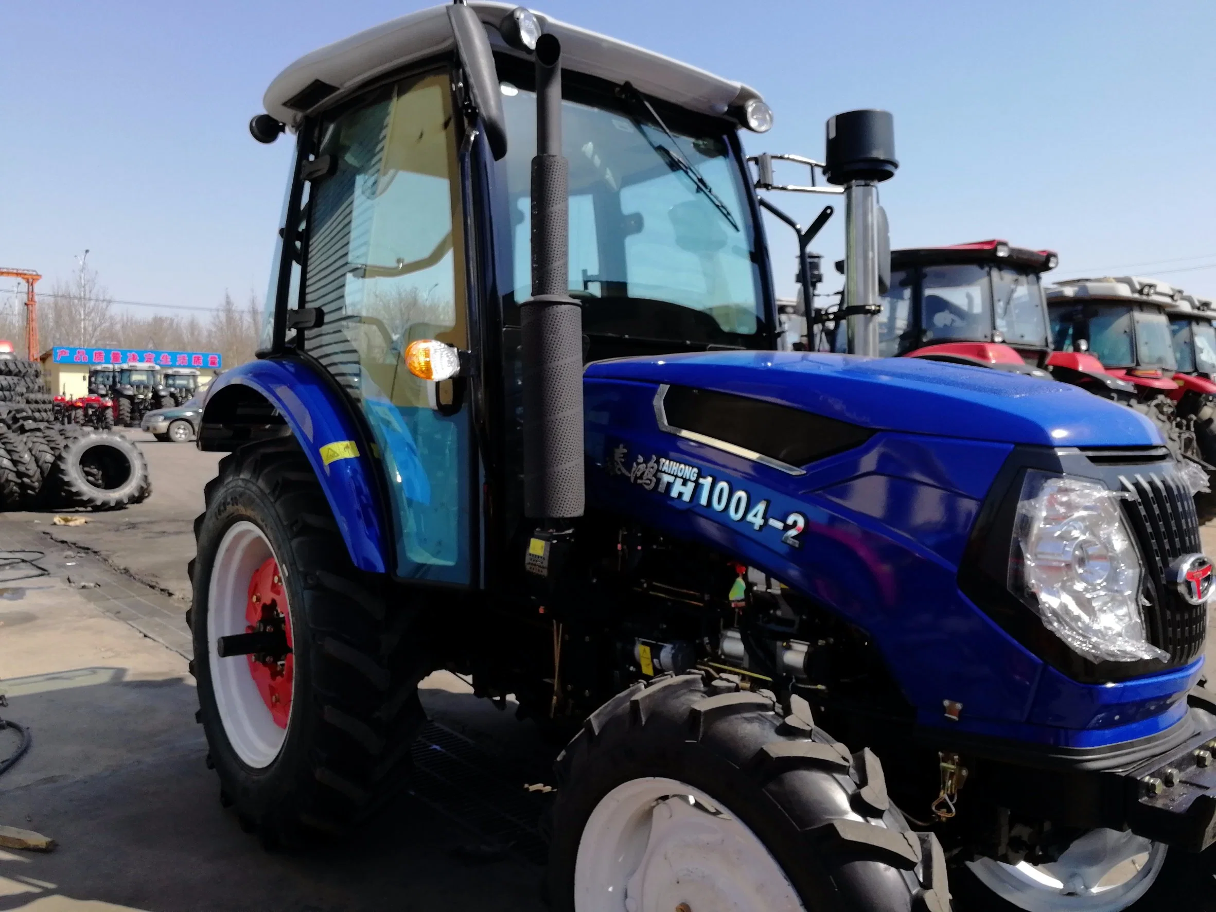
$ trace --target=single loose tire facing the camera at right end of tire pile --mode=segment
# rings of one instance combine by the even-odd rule
[[[143,454],[118,434],[72,437],[55,462],[52,491],[62,506],[119,510],[139,502],[147,485]]]

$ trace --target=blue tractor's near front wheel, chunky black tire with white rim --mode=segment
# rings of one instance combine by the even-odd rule
[[[782,714],[725,677],[636,683],[557,772],[556,912],[948,912],[936,837],[910,832],[878,759],[815,728],[796,697]]]

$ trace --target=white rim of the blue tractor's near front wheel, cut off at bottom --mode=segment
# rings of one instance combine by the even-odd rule
[[[668,778],[631,779],[596,805],[579,840],[574,907],[803,911],[755,833],[699,789]]]

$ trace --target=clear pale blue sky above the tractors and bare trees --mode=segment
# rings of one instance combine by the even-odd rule
[[[297,56],[423,5],[4,4],[0,265],[67,277],[90,248],[117,299],[206,308],[225,291],[264,293],[291,145],[247,133],[266,84]],[[777,125],[745,134],[749,152],[820,157],[828,116],[890,109],[895,246],[998,236],[1059,250],[1055,277],[1150,264],[1130,271],[1216,297],[1210,0],[536,9],[759,89]],[[817,212],[784,203],[804,221]],[[838,215],[816,246],[838,257],[841,231]],[[788,294],[786,232],[770,225]]]

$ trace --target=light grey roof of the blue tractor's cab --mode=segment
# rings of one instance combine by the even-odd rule
[[[507,50],[499,24],[516,9],[511,4],[471,2],[497,50]],[[759,98],[754,89],[587,32],[542,13],[535,13],[545,32],[562,43],[563,69],[632,83],[638,91],[705,114],[724,116],[728,109]],[[275,77],[264,97],[266,113],[295,128],[305,114],[327,107],[368,81],[411,63],[450,51],[455,45],[445,6],[401,16],[359,34],[326,45],[300,57]]]

